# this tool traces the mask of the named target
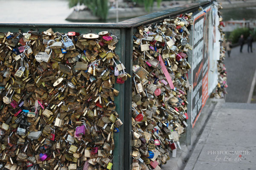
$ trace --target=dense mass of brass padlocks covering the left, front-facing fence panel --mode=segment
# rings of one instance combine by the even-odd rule
[[[32,164],[67,170],[68,165],[69,169],[81,169],[87,159],[89,168],[100,165],[111,169],[113,135],[122,125],[114,103],[119,95],[114,88],[115,62],[116,76],[120,73],[117,82],[129,77],[115,53],[118,38],[108,31],[100,36],[69,32],[72,37],[68,37],[51,28],[24,35],[21,31],[0,33],[0,39],[6,41],[0,46],[4,61],[0,91],[5,93],[1,113],[6,117],[0,138],[8,139],[8,145],[1,145],[1,149],[18,145],[16,155],[11,150],[3,153],[3,161],[8,159],[14,165],[26,161],[31,170],[36,169]],[[13,42],[18,42],[15,47]],[[17,132],[10,132],[10,128]],[[20,153],[24,153],[23,160]]]

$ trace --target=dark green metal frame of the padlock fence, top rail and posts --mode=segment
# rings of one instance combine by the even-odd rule
[[[53,31],[67,33],[76,31],[80,34],[98,33],[108,31],[118,37],[115,52],[126,68],[126,72],[132,75],[132,54],[133,54],[133,33],[140,25],[156,23],[168,17],[176,17],[177,14],[184,14],[197,11],[200,6],[208,6],[211,1],[198,1],[196,3],[186,4],[180,7],[165,11],[159,11],[147,14],[141,17],[132,18],[119,23],[84,23],[84,24],[19,24],[19,23],[0,23],[0,32],[27,32],[30,29],[46,31],[52,28]],[[189,56],[189,63],[192,62],[192,56]],[[115,149],[113,151],[113,170],[131,169],[131,93],[132,79],[128,79],[124,85],[116,84],[115,88],[120,92],[116,97],[116,111],[119,113],[119,119],[123,125],[119,127],[119,133],[114,135]],[[188,94],[188,96],[191,94]],[[189,102],[189,98],[188,98]],[[188,115],[191,111],[188,108]],[[190,116],[189,116],[190,117]],[[186,143],[190,144],[191,125],[188,120]]]

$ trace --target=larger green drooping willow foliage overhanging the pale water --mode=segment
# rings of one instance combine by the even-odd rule
[[[94,15],[106,20],[108,17],[108,0],[69,0],[69,6],[76,6],[78,3],[84,4]]]

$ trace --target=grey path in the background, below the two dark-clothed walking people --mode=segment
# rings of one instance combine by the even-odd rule
[[[247,52],[247,44],[243,53],[240,46],[232,48],[230,57],[226,57],[227,96],[226,102],[246,103],[250,93],[253,76],[256,71],[256,42],[253,43],[253,53]]]

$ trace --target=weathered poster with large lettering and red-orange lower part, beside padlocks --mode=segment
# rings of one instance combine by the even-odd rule
[[[193,59],[192,59],[192,112],[191,125],[200,116],[208,97],[209,72],[209,19],[211,6],[194,16]],[[212,50],[212,49],[210,49]]]

